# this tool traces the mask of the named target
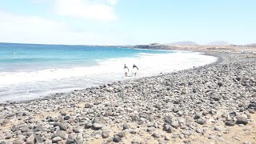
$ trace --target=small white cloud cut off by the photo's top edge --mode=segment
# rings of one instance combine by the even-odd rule
[[[56,0],[55,12],[58,15],[69,16],[74,18],[94,19],[103,21],[114,21],[118,19],[114,13],[114,4],[116,0],[106,2],[91,0]]]

